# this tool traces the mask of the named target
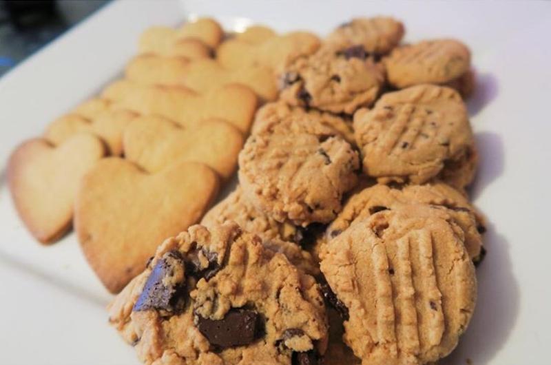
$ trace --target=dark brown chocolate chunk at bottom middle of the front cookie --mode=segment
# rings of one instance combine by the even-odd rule
[[[262,333],[260,316],[246,309],[231,309],[218,321],[196,315],[196,323],[200,333],[218,348],[251,344]]]

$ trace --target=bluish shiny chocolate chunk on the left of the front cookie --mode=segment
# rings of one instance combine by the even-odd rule
[[[178,278],[180,271],[181,278]],[[168,251],[153,268],[143,291],[134,304],[133,311],[149,309],[177,313],[183,309],[186,299],[184,260],[180,251]]]

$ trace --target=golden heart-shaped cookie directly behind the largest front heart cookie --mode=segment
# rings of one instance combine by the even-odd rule
[[[239,129],[222,119],[182,128],[160,116],[142,116],[125,129],[123,143],[125,158],[148,172],[186,160],[204,163],[229,178],[244,139]]]

